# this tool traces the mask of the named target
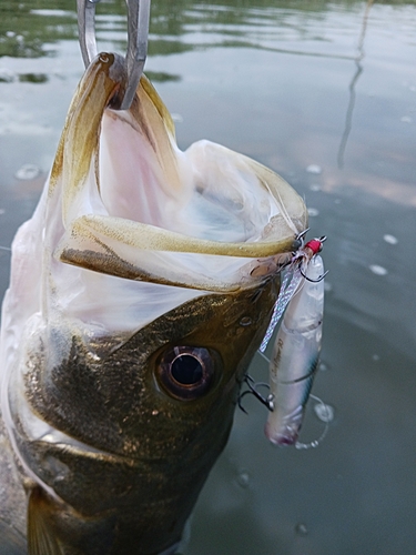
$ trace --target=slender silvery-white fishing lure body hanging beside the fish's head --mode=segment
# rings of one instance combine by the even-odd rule
[[[316,252],[319,250],[316,249]],[[306,273],[303,271],[301,274],[298,286],[284,313],[271,359],[270,386],[274,406],[268,414],[265,434],[276,445],[296,442],[318,363],[324,264],[316,252],[303,269]]]

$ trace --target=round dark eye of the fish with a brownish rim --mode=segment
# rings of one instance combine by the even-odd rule
[[[175,346],[162,356],[156,376],[162,387],[175,398],[191,401],[204,395],[214,376],[214,361],[207,349]]]

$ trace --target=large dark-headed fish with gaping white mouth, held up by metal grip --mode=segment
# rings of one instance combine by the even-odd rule
[[[144,75],[129,110],[123,90],[102,52],[12,243],[0,553],[175,552],[307,224],[264,165],[205,140],[181,151]]]

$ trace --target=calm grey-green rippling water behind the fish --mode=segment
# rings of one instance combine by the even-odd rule
[[[0,245],[33,210],[83,71],[74,9],[0,0]],[[122,1],[99,4],[98,39],[124,51]],[[153,0],[146,73],[181,148],[206,138],[271,167],[328,236],[327,435],[274,448],[247,401],[182,553],[415,554],[415,2]],[[251,372],[267,380],[260,356]],[[315,404],[303,441],[322,433]]]

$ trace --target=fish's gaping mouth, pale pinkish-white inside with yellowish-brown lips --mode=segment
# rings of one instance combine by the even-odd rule
[[[129,280],[223,292],[253,285],[253,260],[294,249],[307,223],[303,200],[220,144],[182,152],[144,75],[129,110],[109,108],[123,84],[114,67],[116,57],[100,54],[72,101],[49,182],[48,213],[62,213],[47,222],[51,252]]]

